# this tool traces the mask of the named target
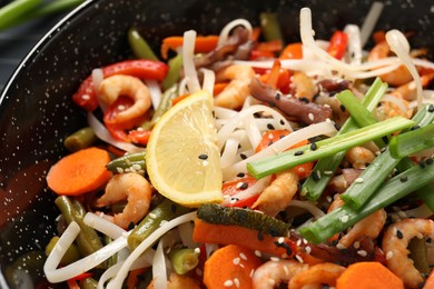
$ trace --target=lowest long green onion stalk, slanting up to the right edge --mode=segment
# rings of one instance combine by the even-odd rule
[[[319,243],[433,180],[434,166],[414,166],[385,181],[359,210],[354,210],[348,205],[344,205],[302,228],[300,233],[308,241]]]

